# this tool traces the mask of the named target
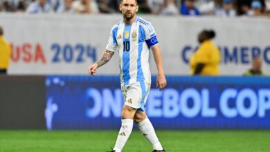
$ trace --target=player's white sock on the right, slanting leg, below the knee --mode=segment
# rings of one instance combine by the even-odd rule
[[[163,147],[161,146],[161,143],[159,142],[159,139],[156,137],[156,133],[154,132],[154,127],[148,117],[138,123],[138,128],[141,130],[150,144],[152,144],[153,149],[157,151],[163,150]]]

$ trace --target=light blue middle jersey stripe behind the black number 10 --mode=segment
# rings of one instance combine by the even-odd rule
[[[123,32],[123,77],[124,77],[124,83],[125,85],[129,84],[129,50],[130,50],[130,30],[132,28],[132,25],[125,26],[124,32]],[[129,33],[127,39],[125,38],[125,32]]]

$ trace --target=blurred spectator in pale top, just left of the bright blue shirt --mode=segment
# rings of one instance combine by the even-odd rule
[[[165,0],[165,5],[161,10],[161,15],[179,15],[179,10],[174,0]]]

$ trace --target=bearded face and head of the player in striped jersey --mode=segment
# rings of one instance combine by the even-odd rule
[[[126,20],[130,20],[136,15],[138,5],[136,0],[123,0],[122,3],[120,3],[119,9],[122,12],[123,17]]]

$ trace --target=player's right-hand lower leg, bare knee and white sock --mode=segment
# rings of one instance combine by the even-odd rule
[[[163,147],[161,146],[161,142],[159,142],[158,137],[156,137],[154,127],[146,116],[145,111],[136,111],[134,115],[134,121],[138,124],[139,129],[150,142],[153,149],[156,151],[162,151]]]

